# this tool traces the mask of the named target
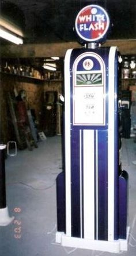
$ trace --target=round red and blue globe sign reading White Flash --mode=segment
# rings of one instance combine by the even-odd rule
[[[86,42],[102,41],[109,28],[109,16],[99,5],[88,5],[78,13],[75,30]]]

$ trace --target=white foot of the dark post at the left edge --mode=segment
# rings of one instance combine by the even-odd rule
[[[14,217],[9,217],[8,208],[0,209],[0,226],[7,226],[13,221]]]

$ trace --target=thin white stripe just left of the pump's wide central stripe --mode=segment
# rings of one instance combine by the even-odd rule
[[[80,130],[80,225],[82,237],[82,132]]]

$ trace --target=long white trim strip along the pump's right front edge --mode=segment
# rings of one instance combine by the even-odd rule
[[[108,240],[114,240],[114,100],[115,100],[115,53],[116,47],[109,50],[108,77]]]

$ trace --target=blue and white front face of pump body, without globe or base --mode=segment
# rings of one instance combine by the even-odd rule
[[[115,58],[112,48],[74,49],[66,53],[67,236],[118,239]]]

